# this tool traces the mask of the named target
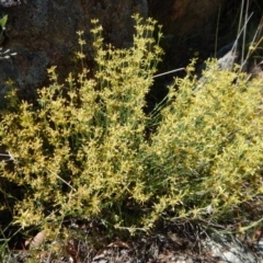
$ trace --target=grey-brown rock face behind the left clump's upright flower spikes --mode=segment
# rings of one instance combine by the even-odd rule
[[[56,65],[60,79],[77,70],[77,31],[84,32],[87,64],[92,60],[91,19],[100,20],[105,41],[125,46],[133,38],[132,14],[147,16],[148,8],[146,0],[1,0],[0,13],[8,14],[1,44],[18,53],[0,60],[1,93],[12,79],[28,99],[45,82],[47,67]]]

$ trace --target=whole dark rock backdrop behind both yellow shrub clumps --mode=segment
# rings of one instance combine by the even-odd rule
[[[8,79],[15,81],[23,96],[30,99],[36,87],[45,84],[47,67],[57,66],[59,80],[69,71],[77,72],[79,64],[75,53],[79,50],[76,33],[79,30],[84,32],[85,62],[92,68],[90,30],[94,18],[103,25],[105,41],[117,47],[128,46],[133,41],[132,14],[158,20],[163,25],[165,37],[161,44],[168,58],[162,71],[185,67],[194,52],[206,50],[205,59],[210,52],[216,52],[218,15],[222,15],[228,4],[227,0],[0,0],[0,14],[8,14],[7,28],[0,32],[3,47],[0,50],[0,100]],[[224,38],[218,47],[235,41],[236,36],[232,37]],[[18,55],[1,59],[1,53],[9,48]]]

